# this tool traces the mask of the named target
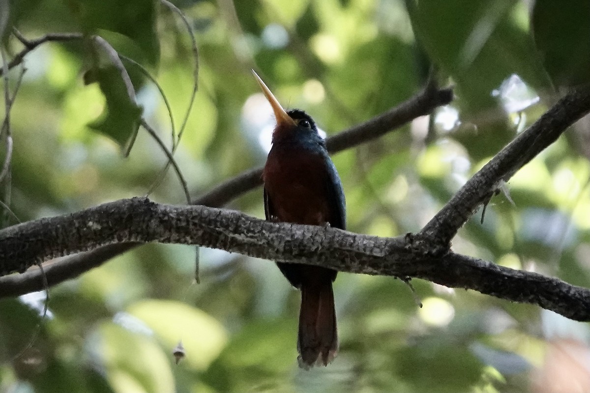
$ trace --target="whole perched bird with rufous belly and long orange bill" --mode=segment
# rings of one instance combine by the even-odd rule
[[[266,219],[346,229],[342,183],[316,123],[302,110],[284,110],[258,74],[252,72],[277,121],[262,175]],[[301,292],[299,366],[327,366],[339,346],[332,289],[337,272],[301,263],[277,262],[277,266]]]

